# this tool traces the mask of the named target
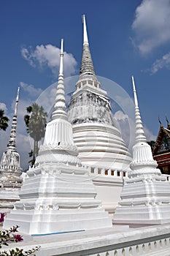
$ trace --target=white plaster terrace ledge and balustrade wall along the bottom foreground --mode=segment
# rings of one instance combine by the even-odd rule
[[[90,230],[50,236],[23,236],[26,243],[18,243],[24,250],[41,246],[36,256],[55,255],[170,255],[170,226],[156,225],[129,229],[128,226],[113,226],[109,229]],[[32,240],[31,240],[32,239]],[[16,244],[1,249],[12,249]],[[124,252],[125,251],[125,252]],[[117,254],[116,254],[117,253]],[[133,253],[133,254],[132,254]]]

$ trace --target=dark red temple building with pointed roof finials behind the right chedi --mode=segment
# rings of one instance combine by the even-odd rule
[[[163,127],[160,121],[161,125],[152,154],[161,173],[170,174],[170,124],[168,118],[166,118],[166,121],[167,127]]]

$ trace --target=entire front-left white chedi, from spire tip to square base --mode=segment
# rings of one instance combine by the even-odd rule
[[[51,234],[112,227],[109,215],[96,199],[88,170],[78,158],[65,101],[62,39],[52,121],[47,124],[35,167],[28,170],[23,182],[20,202],[5,219],[5,228],[15,223],[22,233]]]

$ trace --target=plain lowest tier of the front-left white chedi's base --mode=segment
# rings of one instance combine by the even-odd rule
[[[75,210],[15,210],[8,214],[4,228],[19,225],[21,233],[31,235],[67,233],[112,227],[112,221],[103,208]]]

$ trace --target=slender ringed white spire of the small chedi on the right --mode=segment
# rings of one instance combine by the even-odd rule
[[[134,83],[134,76],[132,76],[132,84],[133,84],[133,89],[134,89],[134,104],[135,104],[135,117],[136,117],[136,139],[135,143],[140,143],[140,142],[147,142],[147,139],[144,135],[144,129],[142,126],[142,120],[139,112],[139,106],[138,106],[138,99],[137,99],[137,94],[136,94],[136,88],[135,88],[135,83]]]

